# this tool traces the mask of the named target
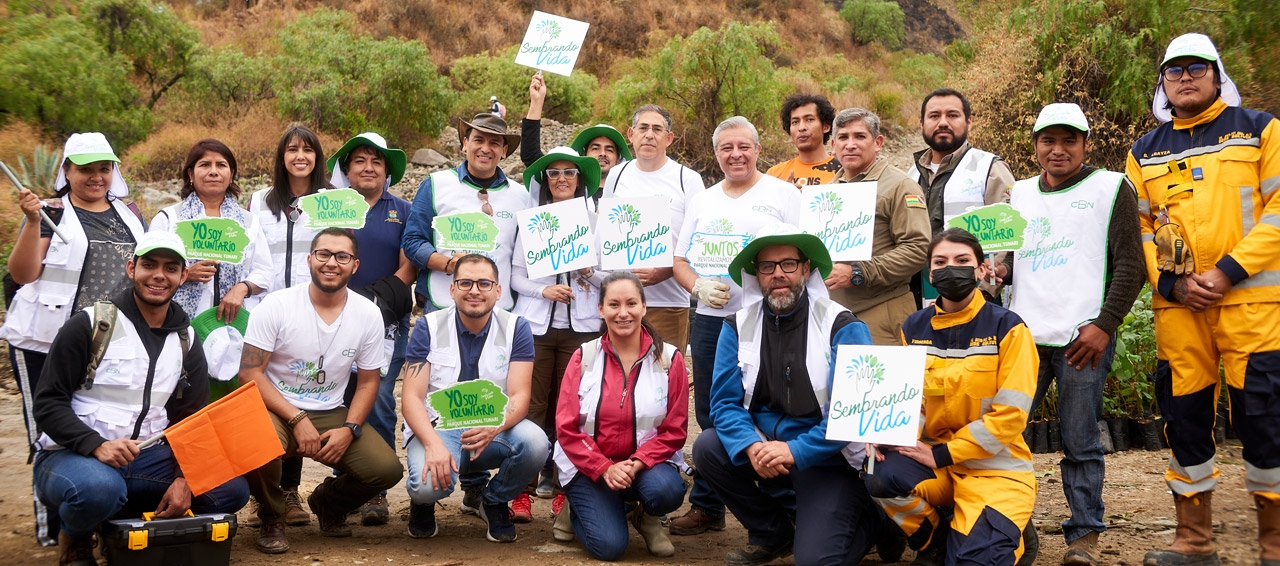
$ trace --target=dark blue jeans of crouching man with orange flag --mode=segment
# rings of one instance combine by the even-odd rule
[[[58,510],[63,531],[82,539],[113,517],[137,517],[155,511],[174,480],[178,461],[169,444],[155,444],[124,467],[111,467],[91,456],[69,449],[36,456],[35,484],[41,499]],[[229,481],[191,499],[196,513],[234,513],[248,502],[244,478]]]

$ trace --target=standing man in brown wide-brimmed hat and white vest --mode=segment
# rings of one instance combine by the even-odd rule
[[[520,146],[518,133],[507,133],[507,123],[489,113],[471,122],[458,119],[462,164],[431,173],[419,184],[404,227],[404,255],[417,268],[416,295],[422,310],[431,312],[453,306],[449,296],[454,264],[470,252],[483,254],[498,264],[498,283],[509,289],[511,256],[517,237],[516,211],[529,207],[529,191],[508,179],[499,161]],[[481,213],[497,224],[493,251],[444,250],[435,246],[436,216]],[[488,224],[485,222],[484,224]],[[466,232],[466,230],[461,230]],[[477,246],[481,247],[481,246]],[[515,298],[508,292],[498,297],[498,307],[511,310]]]

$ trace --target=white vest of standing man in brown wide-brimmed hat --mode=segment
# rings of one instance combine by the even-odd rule
[[[479,213],[480,197],[479,187],[463,183],[458,178],[457,169],[445,169],[431,173],[431,197],[435,218],[457,213]],[[511,310],[515,300],[511,297],[511,256],[518,237],[516,225],[516,213],[529,207],[529,191],[520,183],[507,179],[507,184],[489,190],[489,205],[493,206],[493,222],[498,225],[498,248],[492,252],[477,252],[488,256],[498,264],[498,284],[502,286],[502,295],[498,296],[498,309]],[[433,238],[434,239],[434,238]],[[471,250],[449,250],[436,247],[435,251],[445,257],[453,252],[466,254]],[[453,284],[453,275],[444,271],[429,270],[426,273],[426,298],[436,309],[453,306],[453,297],[449,295],[449,286]]]

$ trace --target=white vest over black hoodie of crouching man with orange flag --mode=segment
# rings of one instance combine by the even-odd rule
[[[90,320],[93,307],[84,309]],[[195,332],[188,327],[191,343],[196,343]],[[116,314],[111,330],[111,342],[106,346],[102,362],[93,376],[93,387],[72,393],[72,410],[88,428],[108,441],[120,438],[147,439],[169,426],[169,414],[165,403],[178,387],[182,378],[182,343],[178,333],[169,333],[164,348],[156,357],[155,375],[151,379],[151,394],[146,393],[147,369],[151,359],[146,346],[138,338],[138,330],[128,316]],[[147,402],[147,412],[142,405]],[[138,419],[142,426],[138,435],[133,428]],[[49,434],[41,434],[36,449],[60,449]]]

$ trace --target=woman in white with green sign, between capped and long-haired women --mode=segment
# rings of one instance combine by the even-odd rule
[[[178,288],[173,301],[182,306],[187,316],[195,319],[205,309],[218,307],[218,320],[236,320],[244,300],[270,289],[274,275],[271,254],[257,216],[239,206],[239,184],[236,183],[236,155],[218,140],[201,140],[187,151],[182,165],[182,202],[161,209],[151,219],[152,230],[191,234],[187,245],[187,282]],[[237,238],[225,229],[211,229],[202,224],[189,232],[178,230],[179,223],[207,218],[234,220],[248,245],[243,246],[239,263],[215,261],[201,257],[204,251],[234,252],[244,238]],[[198,223],[197,223],[198,224]],[[224,224],[232,229],[230,224]],[[183,236],[183,239],[188,239]],[[196,242],[200,239],[200,242]]]

